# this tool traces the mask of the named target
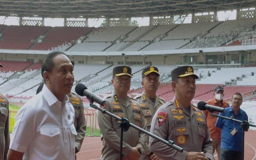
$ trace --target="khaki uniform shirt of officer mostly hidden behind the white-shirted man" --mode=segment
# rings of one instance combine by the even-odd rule
[[[77,136],[75,138],[75,147],[79,152],[81,145],[83,143],[83,140],[84,140],[85,132],[86,132],[86,121],[85,121],[85,117],[84,117],[84,105],[83,105],[82,99],[76,93],[70,92],[70,94],[68,96],[69,96],[69,102],[73,105],[73,107],[75,109],[74,125],[75,125],[76,132],[77,132]]]

